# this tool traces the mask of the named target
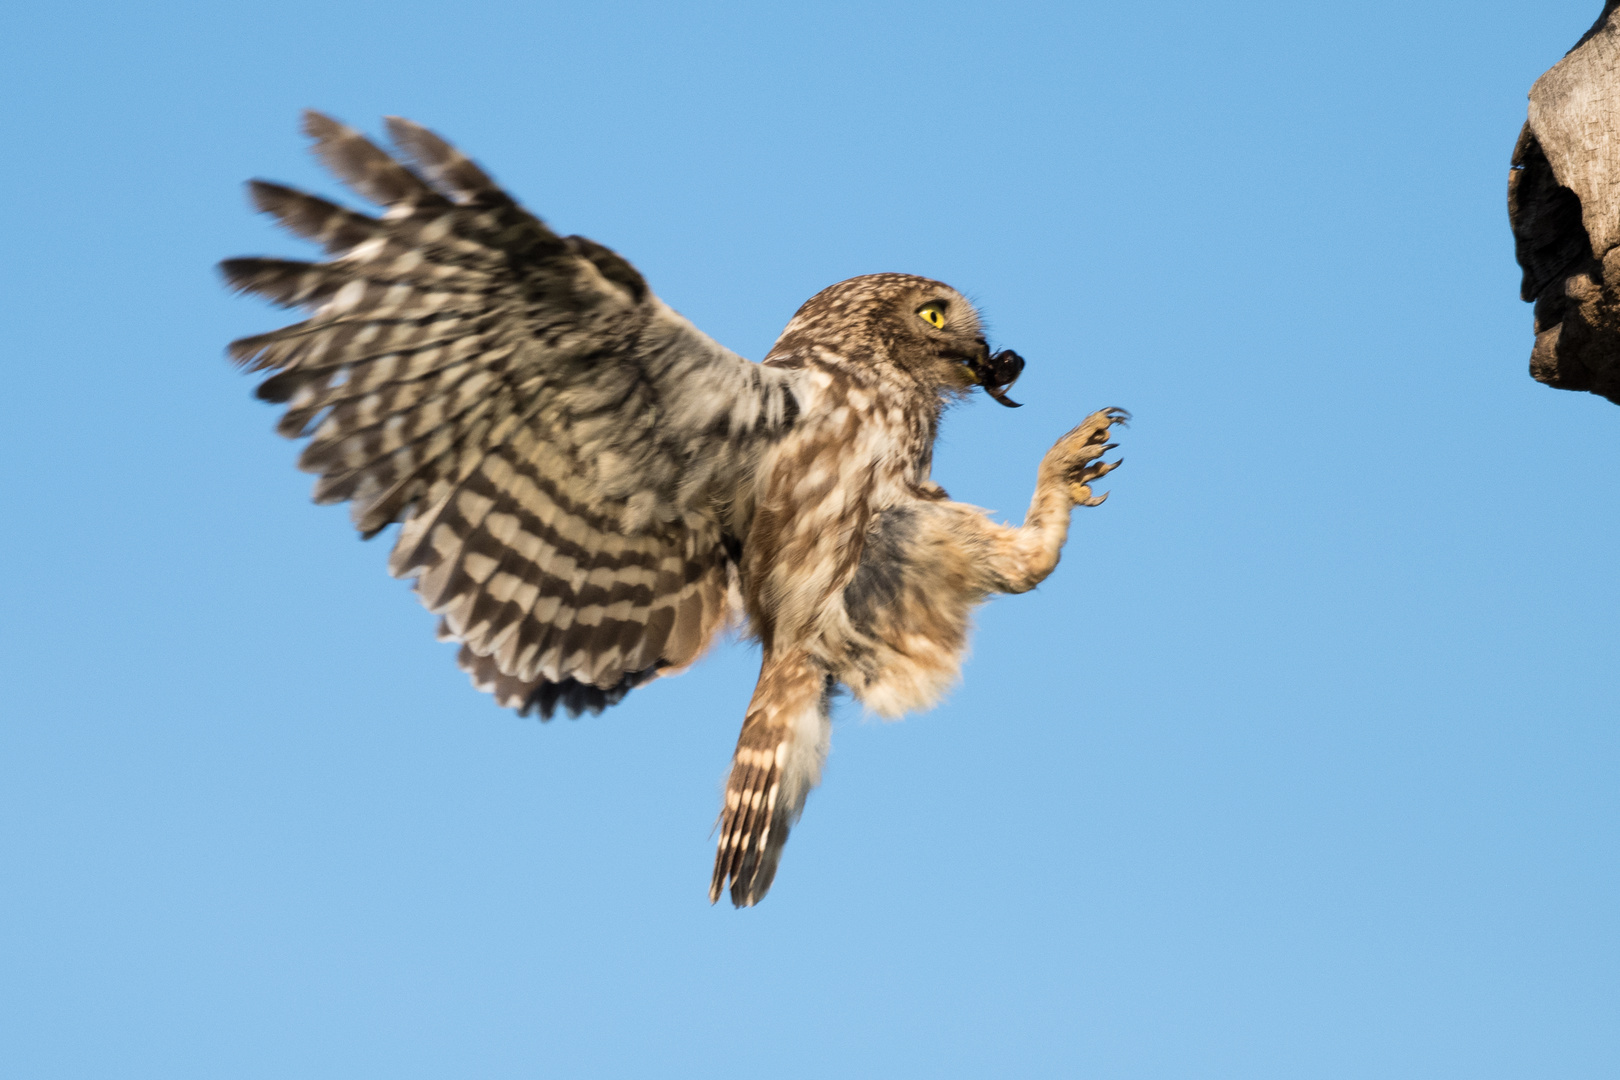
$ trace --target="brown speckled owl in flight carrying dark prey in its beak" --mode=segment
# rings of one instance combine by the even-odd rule
[[[280,434],[308,437],[314,500],[348,502],[366,538],[399,525],[389,572],[499,704],[595,714],[727,627],[760,643],[710,884],[753,905],[820,780],[834,691],[883,717],[935,704],[974,607],[1035,588],[1071,508],[1103,500],[1126,413],[1064,434],[1024,523],[996,523],[930,478],[946,405],[975,387],[1016,405],[1024,366],[954,288],[839,282],[752,363],[431,131],[387,130],[397,157],[305,117],[381,215],[249,185],[329,259],[222,262],[230,287],[309,311],[230,356],[269,372]]]

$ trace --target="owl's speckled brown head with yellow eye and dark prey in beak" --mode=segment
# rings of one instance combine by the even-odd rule
[[[891,369],[951,397],[983,387],[1017,408],[1008,387],[1024,371],[1013,350],[991,353],[978,311],[944,282],[867,274],[829,285],[799,308],[766,361],[821,347],[846,361]]]

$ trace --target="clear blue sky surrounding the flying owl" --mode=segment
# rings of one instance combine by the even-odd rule
[[[1524,374],[1503,210],[1599,8],[10,5],[0,1072],[1620,1075],[1620,410]],[[496,709],[222,358],[306,105],[755,358],[961,287],[1030,366],[959,499],[1136,413],[949,703],[844,706],[763,907],[705,899],[757,656]]]

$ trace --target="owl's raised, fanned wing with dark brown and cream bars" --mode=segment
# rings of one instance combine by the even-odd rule
[[[230,259],[227,282],[305,322],[230,355],[271,371],[279,431],[309,436],[316,502],[352,502],[501,704],[599,711],[690,664],[731,614],[727,520],[792,426],[794,372],[664,306],[622,257],[559,236],[436,134],[390,118],[410,168],[305,115],[368,217],[253,181],[327,262]]]

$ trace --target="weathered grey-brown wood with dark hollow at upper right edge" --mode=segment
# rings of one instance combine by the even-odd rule
[[[1536,304],[1529,372],[1620,405],[1620,0],[1529,91],[1508,220]]]

